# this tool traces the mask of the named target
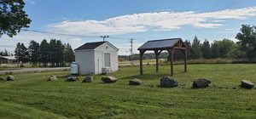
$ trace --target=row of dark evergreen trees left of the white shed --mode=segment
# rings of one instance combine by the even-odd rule
[[[40,44],[32,40],[28,48],[23,42],[18,42],[15,48],[17,61],[22,63],[31,62],[32,65],[64,66],[74,60],[74,53],[69,43],[62,43],[61,40],[44,39]]]

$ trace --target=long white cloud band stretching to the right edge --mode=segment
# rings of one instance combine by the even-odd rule
[[[119,35],[143,31],[173,31],[183,26],[216,28],[226,20],[245,20],[256,15],[256,7],[226,9],[216,12],[155,12],[126,14],[107,20],[64,20],[50,24],[49,31],[78,35]]]

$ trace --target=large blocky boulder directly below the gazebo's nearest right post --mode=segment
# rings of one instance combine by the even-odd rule
[[[160,87],[162,88],[173,88],[177,87],[177,80],[172,77],[161,77],[160,78]]]

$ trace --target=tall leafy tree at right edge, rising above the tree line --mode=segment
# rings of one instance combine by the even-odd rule
[[[237,43],[241,51],[246,53],[247,59],[253,60],[256,57],[256,26],[242,25],[236,39],[239,40]]]

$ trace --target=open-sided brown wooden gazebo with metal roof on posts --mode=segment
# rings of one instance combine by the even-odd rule
[[[140,51],[140,74],[143,75],[143,54],[147,50],[154,51],[155,54],[155,71],[158,72],[158,56],[163,50],[167,50],[171,56],[171,76],[173,76],[173,54],[175,49],[182,51],[184,55],[184,71],[187,72],[187,47],[181,38],[170,38],[162,40],[153,40],[145,42],[141,47],[137,48]]]

